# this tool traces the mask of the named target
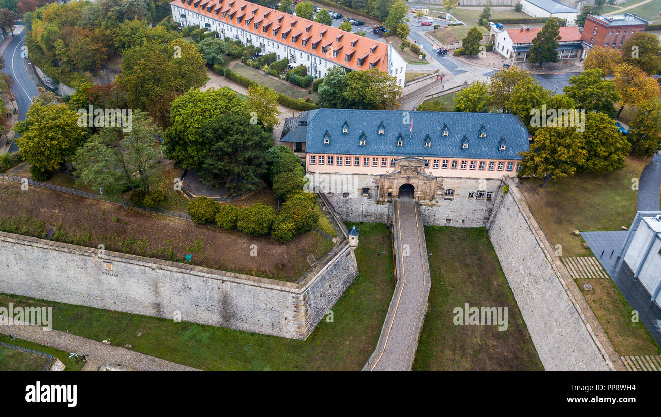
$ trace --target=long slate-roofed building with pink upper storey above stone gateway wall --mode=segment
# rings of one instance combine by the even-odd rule
[[[308,172],[381,175],[415,157],[433,176],[502,178],[529,149],[512,114],[327,109],[288,120],[281,139],[305,157]]]

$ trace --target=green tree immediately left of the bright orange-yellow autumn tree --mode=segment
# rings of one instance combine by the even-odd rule
[[[564,87],[564,93],[576,101],[576,108],[586,112],[601,112],[615,118],[615,102],[619,94],[613,81],[602,79],[601,69],[588,69],[569,79],[570,85]]]

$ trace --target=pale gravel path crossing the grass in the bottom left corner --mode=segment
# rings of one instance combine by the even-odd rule
[[[122,365],[136,371],[198,371],[192,367],[180,365],[171,361],[154,358],[118,346],[106,345],[96,340],[60,332],[59,330],[43,330],[41,326],[0,324],[0,333],[11,334],[19,339],[42,344],[75,353],[82,357],[89,356],[83,371],[97,371],[103,363]]]

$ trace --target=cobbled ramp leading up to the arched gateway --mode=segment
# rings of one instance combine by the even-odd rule
[[[431,280],[422,217],[412,198],[393,200],[397,285],[376,350],[364,371],[410,371]]]

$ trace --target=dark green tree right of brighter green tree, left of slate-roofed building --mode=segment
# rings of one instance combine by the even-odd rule
[[[202,126],[200,137],[210,144],[198,170],[203,182],[226,187],[230,195],[264,186],[262,176],[268,172],[265,152],[273,138],[262,125],[242,114],[225,114]]]

